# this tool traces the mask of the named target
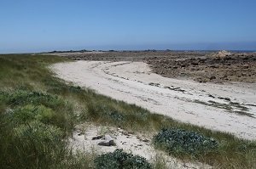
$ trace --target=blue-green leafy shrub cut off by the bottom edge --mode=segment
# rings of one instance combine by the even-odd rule
[[[115,149],[113,153],[99,155],[95,159],[96,169],[149,169],[152,166],[139,156],[125,153],[123,149]]]

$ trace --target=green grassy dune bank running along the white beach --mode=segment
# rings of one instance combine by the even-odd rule
[[[134,104],[75,87],[53,76],[49,65],[68,61],[55,56],[0,55],[0,166],[2,168],[90,168],[92,155],[72,155],[67,139],[83,121],[157,132],[161,128],[195,131],[218,141],[218,148],[200,155],[172,153],[218,168],[256,168],[256,143],[223,132],[150,114]]]

